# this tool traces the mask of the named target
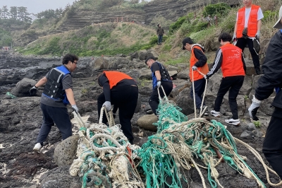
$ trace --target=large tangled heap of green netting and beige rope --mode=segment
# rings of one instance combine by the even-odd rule
[[[200,117],[187,120],[179,107],[166,96],[164,99],[160,98],[157,112],[159,115],[159,121],[156,123],[157,134],[150,136],[147,143],[138,151],[138,155],[142,158],[140,166],[146,175],[147,188],[165,185],[182,187],[181,182],[188,183],[188,180],[181,170],[190,170],[192,167],[199,172],[203,187],[207,186],[200,168],[207,169],[211,187],[223,187],[218,180],[219,172],[216,170],[216,166],[222,160],[240,175],[256,180],[259,187],[265,187],[245,163],[245,157],[238,154],[235,141],[240,140],[233,138],[223,124],[215,120],[209,122]],[[250,146],[247,148],[255,155],[259,155]],[[201,160],[204,165],[197,164],[197,160]],[[263,160],[260,161],[263,163]],[[267,170],[266,167],[265,169]],[[267,172],[266,174],[268,176]],[[168,177],[171,179],[170,182],[166,181]],[[269,178],[267,180],[269,181]]]

